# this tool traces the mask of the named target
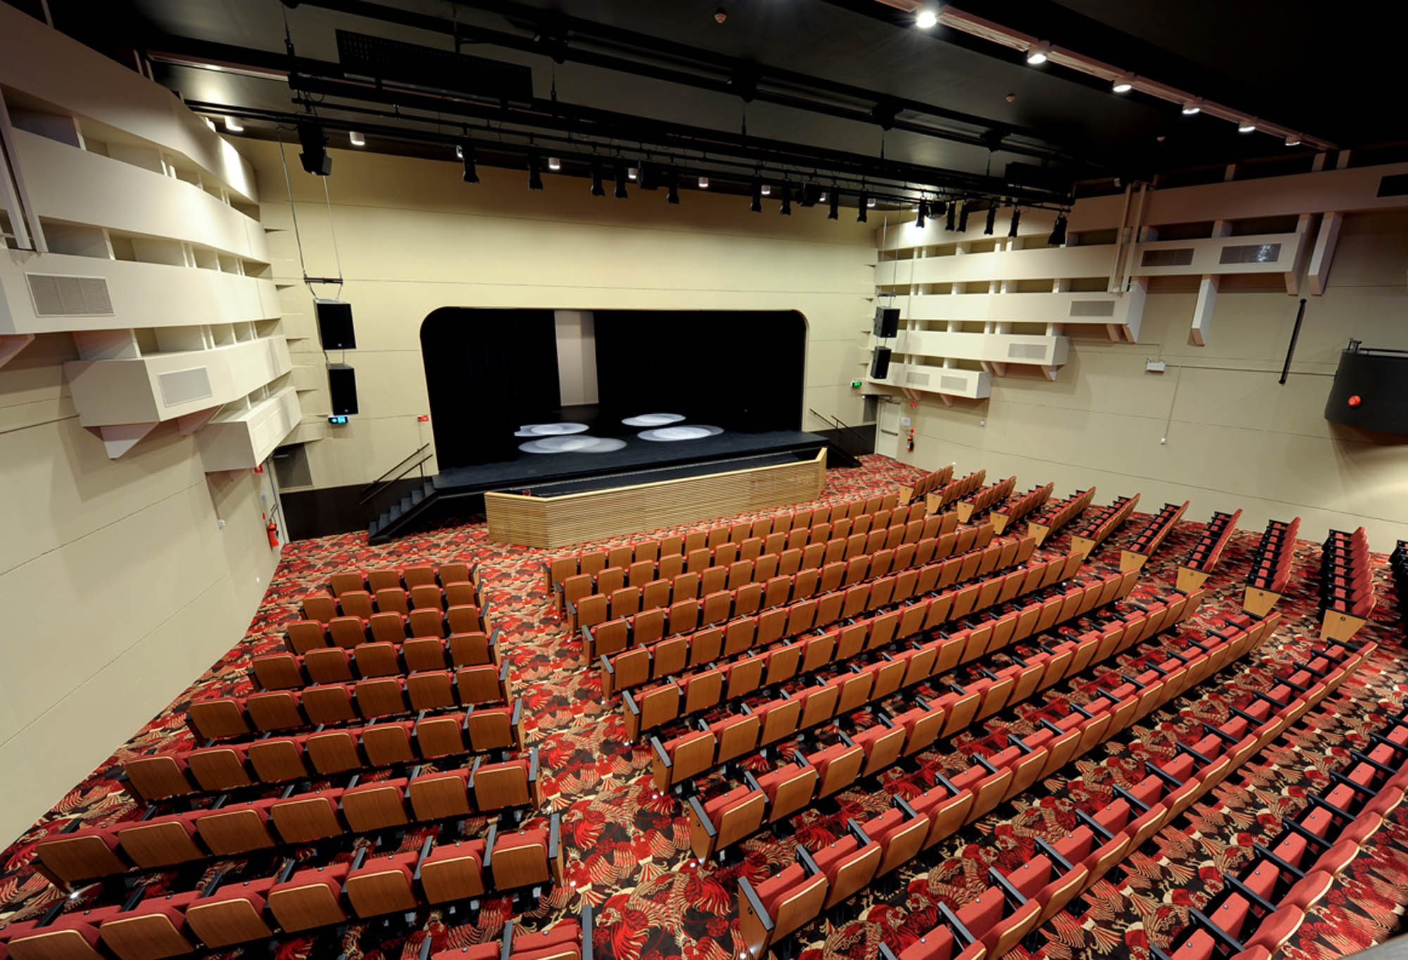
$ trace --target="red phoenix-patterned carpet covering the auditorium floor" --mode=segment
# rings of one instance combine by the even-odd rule
[[[887,493],[914,477],[915,470],[894,460],[865,457],[862,469],[828,472],[825,494],[817,503]],[[1022,480],[1029,486],[1041,479]],[[1097,500],[1108,501],[1115,493],[1135,491],[1104,491]],[[1146,508],[1156,505],[1145,504]],[[1233,510],[1236,504],[1219,507]],[[1119,546],[1133,538],[1146,518],[1132,517],[1087,566],[1111,569],[1118,562]],[[1201,531],[1202,524],[1178,525],[1145,567],[1135,598],[1173,590],[1177,562]],[[1233,536],[1208,581],[1202,608],[1178,631],[1201,636],[1214,618],[1240,610],[1242,587],[1259,536],[1257,531]],[[641,535],[629,539],[641,539]],[[1114,663],[1094,667],[1087,674],[1088,681],[1077,681],[1066,693],[1055,693],[1059,687],[1053,687],[1046,700],[995,714],[939,749],[919,754],[918,763],[881,773],[879,784],[857,784],[836,795],[835,804],[800,814],[793,819],[791,836],[766,830],[753,836],[742,845],[745,856],[738,863],[728,867],[700,864],[690,853],[683,804],[653,788],[648,749],[625,740],[618,698],[603,702],[597,673],[582,667],[580,643],[569,636],[542,590],[541,563],[556,550],[491,543],[483,522],[445,526],[376,548],[363,541],[362,535],[342,535],[298,541],[284,548],[245,639],[4,852],[0,921],[32,919],[62,897],[31,869],[34,845],[73,818],[84,825],[106,825],[139,816],[141,809],[114,780],[122,760],[190,746],[191,735],[182,719],[186,705],[193,700],[248,693],[249,657],[282,649],[283,625],[297,618],[298,598],[325,584],[328,574],[339,569],[452,559],[480,563],[489,614],[503,631],[505,660],[511,664],[515,691],[524,698],[528,743],[541,753],[548,802],[528,826],[541,825],[551,811],[560,811],[567,861],[566,883],[543,897],[538,909],[518,914],[518,923],[541,929],[590,902],[596,908],[594,952],[604,960],[738,957],[742,952],[735,919],[739,876],[755,883],[770,876],[790,861],[797,843],[812,850],[829,843],[843,833],[846,818],[865,819],[887,809],[891,795],[910,798],[922,792],[934,783],[936,771],[962,770],[979,746],[1005,743],[1008,733],[1025,735],[1043,716],[1059,718],[1069,711],[1067,702],[1090,700],[1100,678],[1118,670]],[[1067,541],[1069,536],[1055,538],[1038,556],[1066,548]],[[1298,814],[1307,804],[1305,791],[1324,788],[1329,783],[1328,770],[1343,764],[1349,747],[1363,746],[1369,731],[1381,726],[1390,712],[1404,709],[1408,701],[1404,625],[1384,557],[1374,560],[1380,564],[1381,601],[1374,619],[1356,639],[1377,640],[1376,655],[1318,711],[1308,714],[1305,722],[1253,756],[1011,957],[1148,960],[1150,943],[1167,947],[1183,929],[1188,908],[1205,904],[1218,892],[1224,870],[1245,866],[1252,843],[1274,836],[1283,816]],[[841,912],[800,930],[801,960],[872,960],[881,942],[898,953],[939,922],[939,902],[957,907],[987,887],[990,866],[1021,864],[1033,856],[1033,838],[1073,826],[1076,811],[1094,812],[1110,801],[1115,784],[1138,780],[1146,759],[1169,757],[1176,743],[1193,743],[1202,735],[1202,719],[1221,718],[1233,701],[1266,690],[1276,666],[1295,662],[1315,640],[1318,564],[1319,546],[1301,542],[1288,594],[1278,605],[1284,619],[1260,650],[1208,677],[1163,711],[1150,714],[1080,762],[900,867],[893,883],[863,891],[843,904]],[[315,788],[322,785],[331,784],[314,783]],[[470,821],[469,828],[483,829],[483,823]],[[401,849],[417,849],[422,836],[410,830]],[[1408,814],[1400,807],[1309,914],[1286,954],[1297,960],[1326,960],[1393,936],[1408,904],[1405,850]],[[221,866],[213,864],[207,876]],[[163,890],[172,878],[156,874],[144,883]],[[101,897],[99,887],[90,887],[79,894],[77,905],[108,902]],[[410,960],[427,936],[434,950],[497,939],[504,921],[513,915],[510,901],[500,898],[487,899],[473,925],[446,919],[439,911],[422,912],[410,932],[386,923],[353,923],[339,930],[335,947],[349,960]],[[328,939],[287,937],[280,943],[279,956],[320,957],[328,953]],[[239,952],[225,956],[239,956]]]

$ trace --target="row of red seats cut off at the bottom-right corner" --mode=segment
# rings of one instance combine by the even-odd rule
[[[1408,719],[1388,721],[1367,754],[1352,752],[1331,770],[1328,792],[1307,792],[1298,816],[1286,816],[1242,876],[1222,874],[1222,891],[1190,923],[1170,952],[1150,945],[1159,960],[1212,960],[1218,954],[1269,957],[1300,929],[1305,914],[1329,892],[1408,788]],[[1325,771],[1316,767],[1316,774]]]

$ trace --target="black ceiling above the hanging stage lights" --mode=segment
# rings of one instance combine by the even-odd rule
[[[1402,110],[1383,106],[1397,101],[1390,45],[1404,35],[1404,6],[1390,14],[1388,4],[1339,3],[1333,15],[1305,0],[967,0],[962,8],[1353,146],[1408,134]],[[367,130],[373,149],[397,152],[444,149],[408,144],[411,131],[453,138],[463,125],[487,127],[520,146],[515,132],[555,131],[632,156],[653,139],[655,149],[694,158],[701,172],[727,179],[736,170],[743,183],[745,168],[763,163],[848,184],[865,176],[848,165],[883,152],[890,166],[867,168],[881,193],[884,179],[990,196],[1018,196],[1015,186],[1002,189],[1008,163],[1048,166],[1060,186],[1048,191],[1041,177],[1029,179],[1028,200],[1059,197],[1071,180],[1290,152],[1225,120],[1183,117],[1176,104],[1112,94],[1105,82],[1055,65],[1029,66],[988,41],[942,27],[919,31],[912,14],[879,0],[329,0],[291,8],[279,0],[49,0],[49,8],[61,30],[84,42],[153,55],[158,80],[187,101],[245,111],[252,135],[269,135],[272,122],[259,115],[306,106],[294,103],[286,79],[287,21],[318,114],[334,130]],[[1390,15],[1400,23],[1387,23]],[[338,30],[442,51],[453,48],[456,31],[465,53],[531,68],[536,100],[510,115],[428,90],[353,87],[338,66]],[[183,65],[196,62],[276,73]],[[755,77],[759,96],[745,103],[738,91]],[[887,114],[894,122],[883,130],[877,118]],[[535,142],[546,152],[590,153]],[[489,153],[494,162],[493,145]],[[711,169],[714,162],[724,166]]]

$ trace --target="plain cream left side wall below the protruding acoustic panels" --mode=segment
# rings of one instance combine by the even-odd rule
[[[118,460],[79,427],[66,334],[0,369],[0,846],[245,633],[277,563],[258,477],[163,424]],[[218,526],[218,519],[225,526]]]

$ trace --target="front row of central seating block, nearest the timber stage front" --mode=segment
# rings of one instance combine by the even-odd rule
[[[893,511],[898,505],[900,501],[894,494],[886,494],[883,497],[852,500],[829,507],[808,507],[791,514],[777,514],[755,521],[739,521],[728,526],[712,526],[707,531],[690,531],[683,535],[673,533],[634,545],[560,556],[542,564],[543,591],[552,594],[563,580],[580,573],[594,574],[607,567],[629,567],[638,560],[656,562],[667,556],[681,556],[704,548],[715,549],[724,543],[766,539],[773,533],[788,535],[791,531],[810,529],[818,524],[835,524],[842,518],[855,521],[862,514],[876,514],[881,510]]]

